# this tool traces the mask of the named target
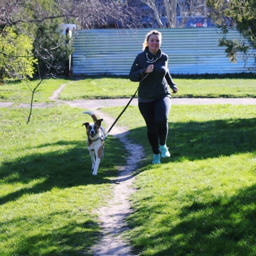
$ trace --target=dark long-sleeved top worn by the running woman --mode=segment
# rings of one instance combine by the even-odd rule
[[[151,64],[154,65],[154,70],[146,74],[145,69]],[[158,50],[157,56],[150,55],[148,47],[140,52],[132,64],[129,77],[133,82],[140,82],[139,101],[151,101],[170,95],[170,88],[175,88],[168,70],[168,56],[161,49]]]

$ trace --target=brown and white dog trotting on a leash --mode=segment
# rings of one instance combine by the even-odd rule
[[[103,119],[97,119],[95,114],[91,111],[84,111],[84,114],[92,116],[94,123],[86,122],[83,125],[86,127],[87,133],[87,148],[92,158],[92,175],[97,175],[100,160],[103,158],[104,151],[104,136],[105,129],[101,126]],[[82,125],[82,126],[83,126]],[[95,161],[96,157],[96,161]]]

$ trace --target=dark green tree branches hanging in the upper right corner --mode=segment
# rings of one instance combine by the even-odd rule
[[[241,56],[245,65],[248,58],[253,58],[254,63],[248,70],[256,70],[256,0],[207,0],[209,15],[221,28],[223,38],[220,46],[225,46],[230,61],[236,63],[237,57]],[[237,30],[241,38],[227,39],[228,32]]]

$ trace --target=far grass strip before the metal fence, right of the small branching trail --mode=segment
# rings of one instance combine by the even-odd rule
[[[244,78],[177,77],[179,88],[174,97],[256,97],[256,80]],[[125,77],[95,77],[76,81],[61,93],[61,99],[109,99],[131,97],[138,83]]]

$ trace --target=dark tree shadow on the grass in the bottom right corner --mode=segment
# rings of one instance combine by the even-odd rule
[[[193,198],[192,194],[186,196]],[[151,213],[148,216],[151,222],[160,218],[161,225],[165,227],[159,229],[161,232],[147,236],[147,247],[154,250],[154,253],[148,255],[255,255],[255,201],[256,185],[253,185],[238,190],[236,195],[230,198],[212,199],[212,202],[194,203],[184,207],[180,212],[180,221],[173,222],[172,215],[163,214],[166,205],[161,202],[156,207],[140,209],[141,212]],[[140,219],[141,227],[146,225],[148,218]],[[132,225],[138,227],[136,218],[133,218]],[[157,230],[157,227],[155,228]],[[143,228],[141,236],[142,234]],[[136,237],[136,241],[140,239]],[[157,250],[157,244],[165,244],[166,249]],[[138,250],[141,248],[143,247],[137,246]]]

